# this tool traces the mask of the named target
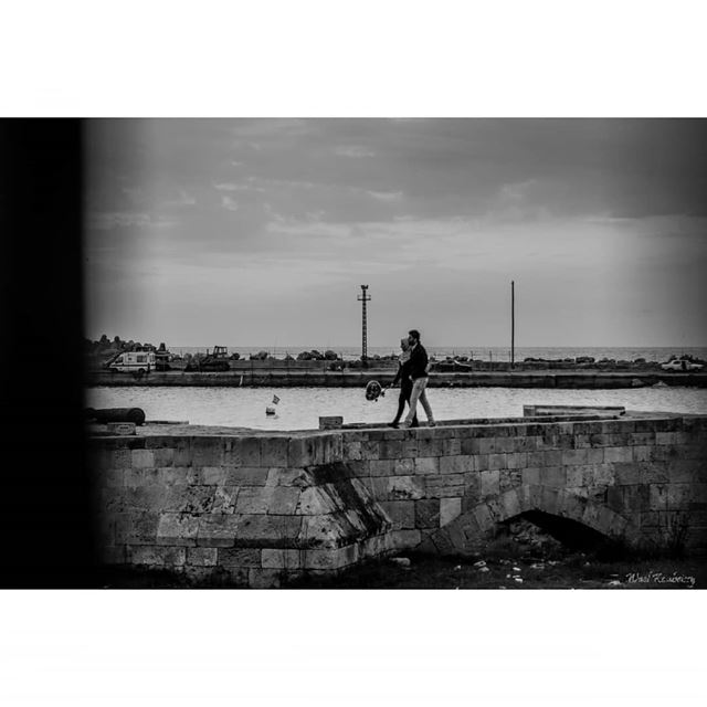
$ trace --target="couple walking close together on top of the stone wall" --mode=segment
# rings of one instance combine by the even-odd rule
[[[420,344],[420,331],[411,329],[408,333],[408,338],[400,340],[400,348],[402,352],[400,355],[398,373],[390,384],[393,388],[398,381],[400,381],[400,397],[398,398],[398,413],[395,419],[389,423],[391,428],[398,428],[400,418],[405,410],[405,402],[410,405],[408,416],[402,422],[403,428],[416,428],[418,424],[418,401],[422,403],[424,412],[428,415],[428,424],[434,426],[434,418],[432,415],[432,408],[428,402],[428,395],[425,394],[425,388],[428,387],[428,369],[430,368],[430,360],[428,352],[424,350],[422,344]]]

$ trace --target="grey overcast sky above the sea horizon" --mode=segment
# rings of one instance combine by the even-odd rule
[[[707,125],[95,120],[87,335],[707,345]]]

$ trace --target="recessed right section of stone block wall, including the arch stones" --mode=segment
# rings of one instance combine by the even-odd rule
[[[705,416],[342,435],[347,465],[411,548],[468,551],[496,523],[537,509],[629,545],[707,550]]]

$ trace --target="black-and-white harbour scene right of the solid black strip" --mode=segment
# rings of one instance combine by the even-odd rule
[[[83,131],[107,582],[704,585],[705,120]]]

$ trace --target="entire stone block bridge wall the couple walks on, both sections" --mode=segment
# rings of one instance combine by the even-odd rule
[[[706,432],[707,416],[656,413],[96,434],[102,561],[271,587],[391,552],[474,552],[524,514],[704,552]]]

